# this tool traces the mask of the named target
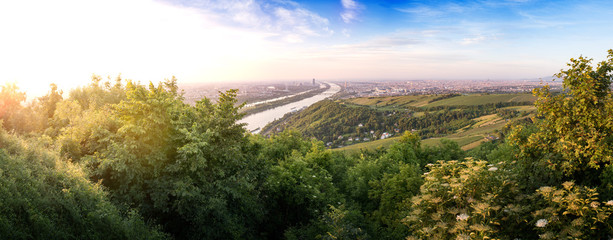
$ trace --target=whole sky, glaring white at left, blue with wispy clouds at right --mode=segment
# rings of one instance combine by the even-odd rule
[[[550,77],[604,60],[613,1],[0,1],[0,83]]]

